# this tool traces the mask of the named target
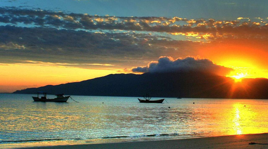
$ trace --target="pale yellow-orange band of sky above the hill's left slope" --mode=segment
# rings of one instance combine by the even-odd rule
[[[0,65],[0,92],[58,85],[118,73],[116,69],[83,69],[65,66],[39,66],[28,64]]]

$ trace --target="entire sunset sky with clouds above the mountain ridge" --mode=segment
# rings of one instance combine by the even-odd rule
[[[267,0],[0,0],[0,92],[116,73],[268,78]]]

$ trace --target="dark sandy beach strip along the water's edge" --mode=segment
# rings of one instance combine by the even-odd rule
[[[255,142],[256,144],[249,144]],[[260,144],[258,144],[260,143]],[[158,141],[140,142],[119,142],[105,144],[84,144],[84,145],[60,145],[30,147],[27,149],[84,149],[84,148],[110,148],[110,149],[136,149],[136,148],[268,148],[268,133],[265,134],[245,134],[231,136],[216,136],[191,139],[173,139]],[[24,148],[25,149],[25,148]]]

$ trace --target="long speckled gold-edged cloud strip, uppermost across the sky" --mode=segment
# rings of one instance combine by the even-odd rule
[[[239,17],[237,20],[249,19]],[[116,17],[77,13],[52,12],[47,10],[19,9],[1,7],[0,22],[7,24],[25,24],[35,27],[54,27],[71,30],[124,30],[143,32],[166,32],[173,35],[185,35],[212,40],[230,37],[247,38],[259,35],[267,38],[268,28],[265,21],[188,19],[166,17]],[[205,35],[205,36],[204,36]],[[210,38],[205,38],[205,37]]]

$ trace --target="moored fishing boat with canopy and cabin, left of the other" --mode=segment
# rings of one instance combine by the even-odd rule
[[[40,96],[40,97],[39,97]],[[44,102],[67,102],[70,96],[64,97],[63,94],[57,94],[57,98],[47,99],[46,92],[39,91],[37,92],[37,97],[32,97],[34,101],[44,101]]]

